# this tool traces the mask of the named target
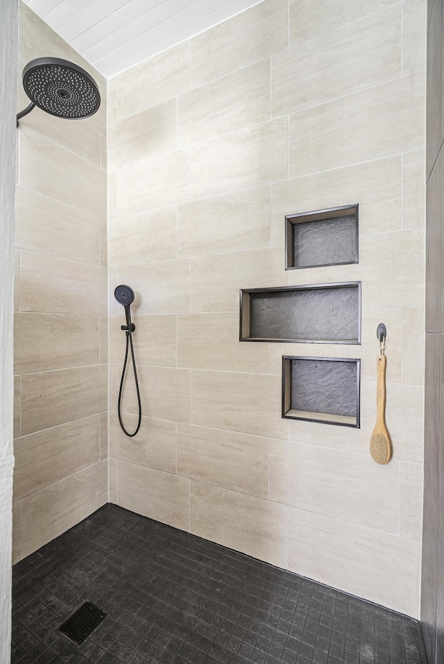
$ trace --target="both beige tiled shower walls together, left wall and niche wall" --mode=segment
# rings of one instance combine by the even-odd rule
[[[102,105],[17,132],[15,562],[110,502],[419,618],[426,3],[324,4],[264,0],[105,80],[20,3],[18,78],[66,58]],[[286,216],[355,204],[359,263],[285,270]],[[240,289],[345,281],[361,344],[239,342]],[[320,355],[361,360],[360,428],[282,419],[282,356]]]

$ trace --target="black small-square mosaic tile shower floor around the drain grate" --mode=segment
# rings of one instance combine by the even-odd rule
[[[425,664],[419,623],[105,505],[13,570],[12,664]],[[89,600],[85,643],[58,631]]]

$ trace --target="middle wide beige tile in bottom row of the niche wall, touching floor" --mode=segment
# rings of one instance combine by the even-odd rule
[[[191,481],[190,532],[287,567],[287,507]]]

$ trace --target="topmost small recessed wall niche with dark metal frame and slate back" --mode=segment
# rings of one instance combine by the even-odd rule
[[[286,270],[358,262],[358,205],[285,217]]]

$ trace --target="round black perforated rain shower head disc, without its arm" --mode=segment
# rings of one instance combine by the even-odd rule
[[[99,89],[92,76],[74,62],[37,58],[26,64],[23,85],[31,101],[51,115],[87,118],[99,109]]]

